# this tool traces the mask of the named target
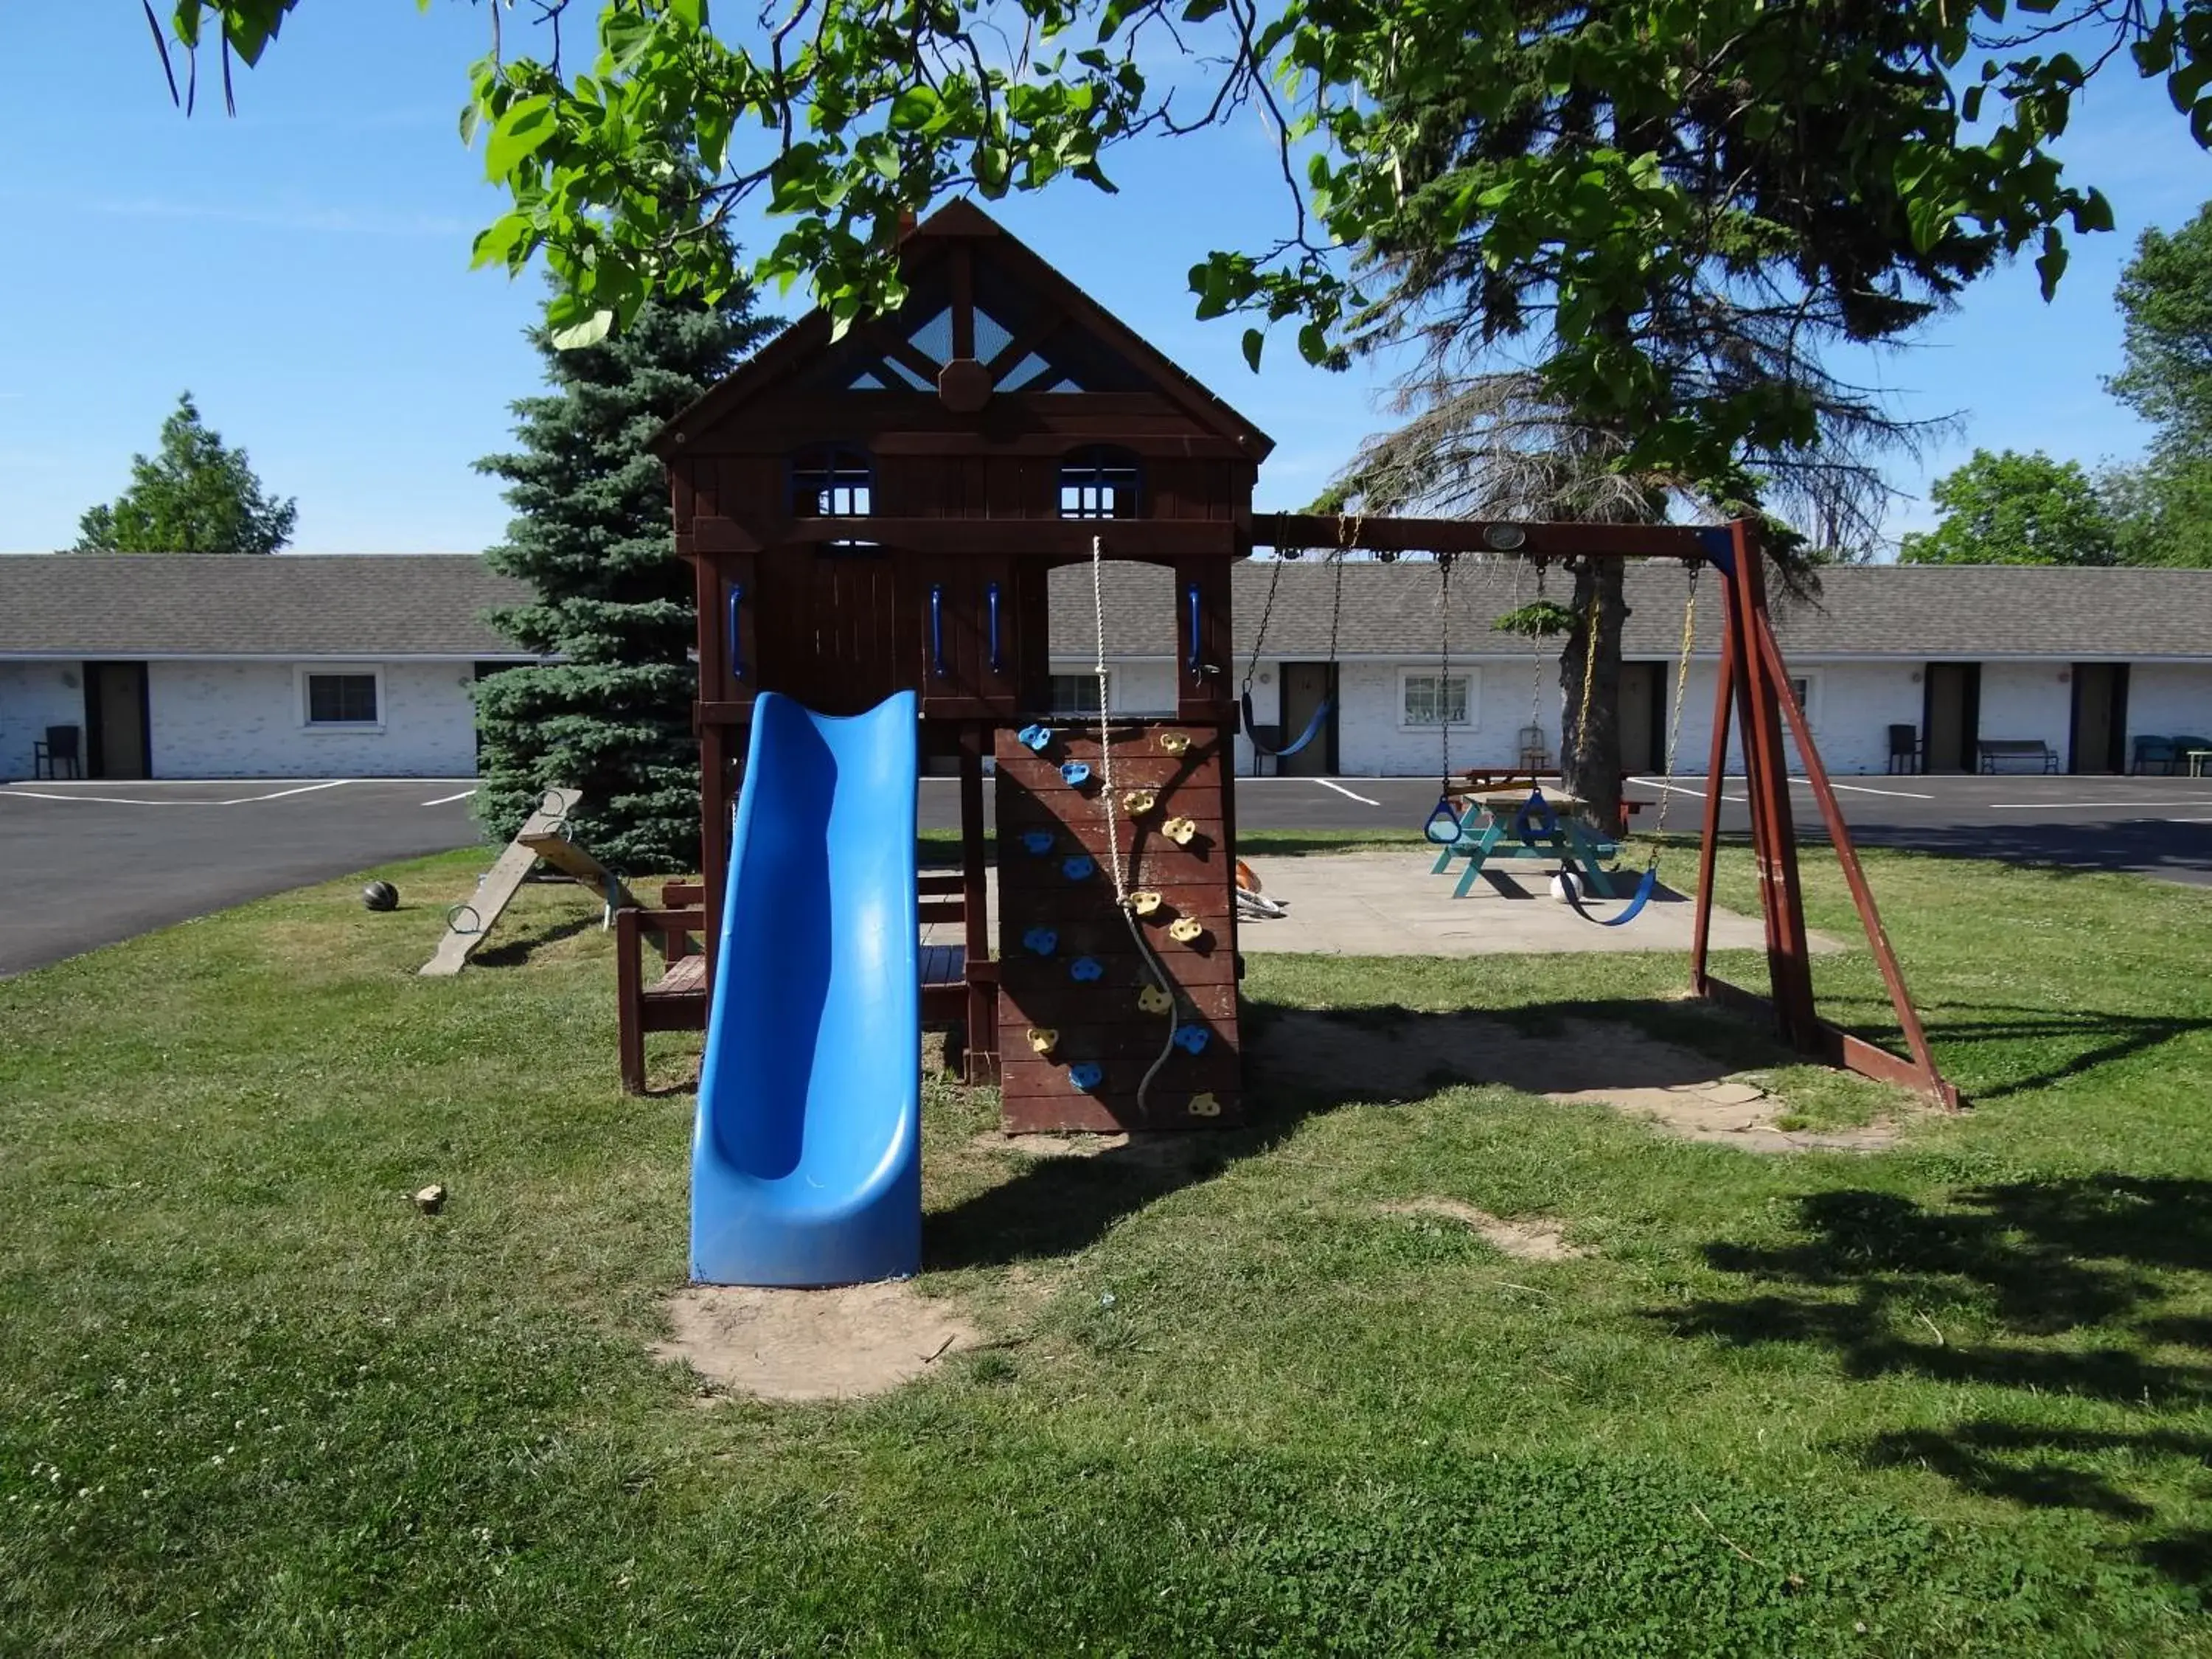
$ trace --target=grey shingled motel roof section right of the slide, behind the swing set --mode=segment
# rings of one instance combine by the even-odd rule
[[[1106,641],[1117,657],[1175,653],[1172,577],[1106,564]],[[1234,571],[1237,655],[1252,650],[1276,566]],[[1672,657],[1681,648],[1683,575],[1672,564],[1632,564],[1621,650]],[[1573,577],[1553,571],[1546,597],[1568,599]],[[1509,560],[1460,560],[1451,571],[1451,650],[1513,655],[1522,641],[1491,622],[1537,597],[1535,573]],[[1325,560],[1281,566],[1267,657],[1327,657],[1336,568]],[[1774,622],[1792,657],[2068,657],[2119,661],[2212,659],[2212,571],[2057,568],[2022,564],[1863,564],[1820,573],[1820,595],[1776,595]],[[1409,657],[1438,648],[1438,571],[1429,560],[1343,564],[1343,657]],[[1091,566],[1053,571],[1053,653],[1091,657]],[[1721,582],[1699,580],[1697,650],[1721,644]]]

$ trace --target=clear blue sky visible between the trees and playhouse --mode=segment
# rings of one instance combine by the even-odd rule
[[[319,0],[239,77],[237,119],[204,86],[188,122],[128,0],[0,7],[0,60],[18,66],[0,102],[0,208],[15,223],[0,265],[0,551],[75,540],[77,513],[124,487],[186,387],[299,498],[296,551],[500,538],[498,487],[469,462],[507,447],[507,405],[538,385],[522,327],[542,290],[467,268],[500,206],[456,135],[484,42],[487,11],[458,0],[427,15],[411,0]],[[2099,385],[2119,361],[2112,285],[2143,226],[2212,197],[2212,159],[2163,91],[2121,80],[2088,93],[2066,155],[2112,197],[2119,232],[2075,243],[2057,303],[2022,265],[1916,349],[1840,365],[1878,376],[1902,414],[1962,416],[1924,467],[1893,471],[1911,495],[1973,447],[2086,465],[2141,447]],[[1387,374],[1312,372],[1281,338],[1254,378],[1241,323],[1192,319],[1183,272],[1281,223],[1270,166],[1243,126],[1124,150],[1119,197],[1068,181],[993,212],[1272,431],[1261,504],[1296,507],[1385,425]],[[1889,531],[1927,522],[1913,500]]]

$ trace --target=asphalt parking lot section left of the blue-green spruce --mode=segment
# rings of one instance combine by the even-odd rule
[[[0,978],[248,898],[467,847],[469,779],[9,783]]]

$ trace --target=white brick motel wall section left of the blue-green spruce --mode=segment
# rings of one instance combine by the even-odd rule
[[[303,668],[378,672],[380,728],[310,728]],[[31,774],[31,739],[46,726],[84,723],[82,679],[82,664],[0,664],[0,776]],[[473,679],[469,661],[150,661],[153,776],[476,776]]]

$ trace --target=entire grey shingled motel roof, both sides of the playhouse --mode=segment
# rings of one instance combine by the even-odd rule
[[[1234,571],[1237,655],[1252,650],[1276,566]],[[1175,650],[1175,577],[1106,566],[1106,639],[1117,657]],[[1566,599],[1564,571],[1546,593]],[[1438,573],[1429,560],[1345,562],[1338,655],[1409,657],[1438,646]],[[1535,599],[1535,575],[1504,560],[1451,573],[1451,650],[1515,655],[1491,622]],[[1699,582],[1699,653],[1719,648],[1719,582]],[[0,557],[0,657],[526,657],[482,622],[529,597],[473,555],[18,555]],[[1681,641],[1683,577],[1628,568],[1630,657]],[[1281,566],[1270,657],[1325,657],[1336,568]],[[1792,657],[2212,659],[2212,571],[2053,566],[1840,566],[1816,599],[1776,599]],[[1053,655],[1093,653],[1091,568],[1053,573]]]

